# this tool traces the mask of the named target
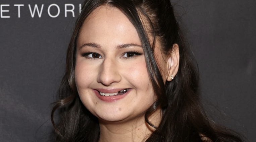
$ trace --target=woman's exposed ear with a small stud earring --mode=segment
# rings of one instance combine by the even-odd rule
[[[180,52],[179,52],[179,46],[178,44],[173,44],[172,45],[172,50],[169,56],[167,57],[167,78],[166,81],[172,81],[177,72],[178,72],[178,67],[180,63]]]

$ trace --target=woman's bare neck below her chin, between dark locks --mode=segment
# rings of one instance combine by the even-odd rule
[[[161,110],[157,109],[149,121],[158,126],[161,121]],[[144,115],[136,120],[100,122],[100,140],[99,142],[144,142],[152,132],[155,131],[144,119]]]

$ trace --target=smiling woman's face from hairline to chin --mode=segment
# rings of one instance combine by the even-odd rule
[[[76,48],[75,83],[85,107],[105,121],[144,117],[156,97],[129,19],[117,8],[97,8],[85,20]],[[166,66],[158,46],[155,54],[158,65]]]

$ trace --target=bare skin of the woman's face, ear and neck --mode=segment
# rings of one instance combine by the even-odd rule
[[[127,46],[120,48],[124,44]],[[178,46],[174,46],[177,50]],[[168,76],[176,74],[178,50],[173,51],[176,57],[166,56],[159,47],[157,42],[157,63],[163,78],[171,81]],[[156,97],[133,24],[119,9],[100,6],[85,20],[76,48],[76,87],[85,107],[99,119],[100,141],[144,141],[154,131],[145,122],[144,115]],[[107,102],[97,97],[95,90],[100,89],[129,89],[129,92],[124,98]],[[157,126],[161,110],[153,113],[149,120]]]

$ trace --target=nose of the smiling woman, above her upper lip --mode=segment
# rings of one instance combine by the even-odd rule
[[[105,58],[100,65],[97,82],[102,83],[104,86],[110,86],[112,83],[121,81],[120,68],[115,59]]]

